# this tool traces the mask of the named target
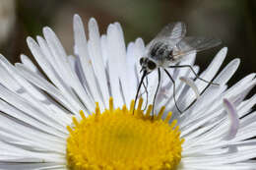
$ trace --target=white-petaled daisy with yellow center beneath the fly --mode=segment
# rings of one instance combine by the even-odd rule
[[[140,79],[141,38],[126,47],[122,28],[109,25],[99,35],[89,21],[87,40],[82,20],[74,16],[74,54],[65,52],[50,28],[43,37],[28,37],[32,56],[15,66],[0,56],[0,169],[4,170],[254,170],[256,169],[255,74],[227,87],[240,60],[218,74],[223,48],[196,80],[190,70],[172,69],[172,85],[163,77],[151,116],[158,75],[149,75],[148,96],[133,111]],[[194,65],[189,54],[182,65]],[[183,79],[179,79],[183,78]],[[195,90],[205,92],[197,97]],[[196,86],[196,88],[195,88]],[[192,87],[192,88],[191,88]],[[144,98],[144,102],[143,102]]]

